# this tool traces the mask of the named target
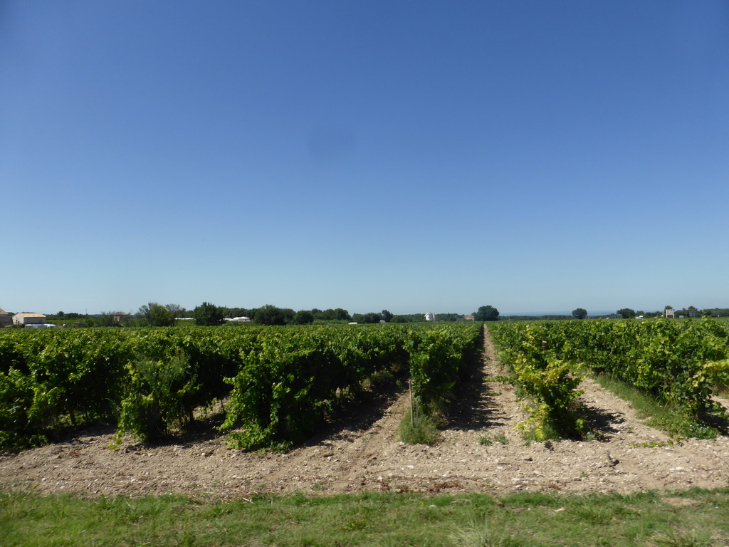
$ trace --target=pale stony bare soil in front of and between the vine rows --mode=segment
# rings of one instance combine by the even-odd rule
[[[668,437],[637,419],[628,403],[590,379],[580,386],[582,403],[594,411],[603,440],[526,444],[516,429],[525,416],[512,388],[484,383],[498,374],[487,331],[483,360],[454,397],[436,446],[399,442],[408,394],[386,393],[288,454],[228,449],[225,437],[211,428],[163,445],[127,441],[111,450],[114,432],[96,429],[2,455],[0,488],[227,499],[255,492],[628,493],[729,484],[729,438],[670,446]]]

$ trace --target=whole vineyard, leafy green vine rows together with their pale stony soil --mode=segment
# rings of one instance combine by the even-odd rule
[[[7,330],[0,429],[5,449],[26,449],[1,457],[0,484],[224,497],[726,486],[727,341],[712,320],[499,322],[485,336],[472,324]],[[600,374],[685,429],[650,427]],[[434,446],[399,439],[410,382],[423,412],[445,408]]]

